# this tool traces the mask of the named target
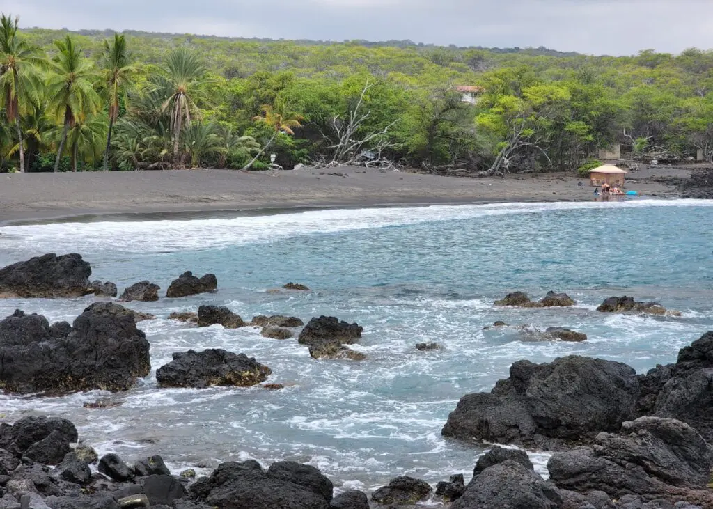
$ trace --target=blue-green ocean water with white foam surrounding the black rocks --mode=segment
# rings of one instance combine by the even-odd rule
[[[369,490],[396,475],[431,483],[472,473],[483,446],[441,437],[463,394],[489,391],[518,359],[581,354],[623,361],[640,372],[672,362],[679,348],[713,330],[713,202],[677,200],[307,210],[272,215],[221,213],[96,217],[85,222],[0,227],[0,266],[46,252],[79,252],[93,279],[162,287],[185,270],[217,275],[219,292],[130,303],[159,318],[139,324],[153,371],[126,393],[63,397],[0,394],[0,418],[28,412],[70,418],[99,453],[127,460],[160,454],[175,469],[255,458],[310,463],[338,488]],[[312,292],[270,292],[287,282]],[[503,309],[515,290],[539,299],[553,289],[568,309]],[[627,294],[677,309],[682,317],[600,314],[600,302]],[[0,301],[72,321],[93,302]],[[355,349],[368,359],[316,361],[296,339],[260,329],[193,328],[168,319],[199,304],[226,305],[244,319],[326,314],[364,327]],[[496,320],[588,334],[581,344],[532,341],[517,329],[483,330]],[[435,341],[438,351],[417,351]],[[267,391],[158,389],[155,369],[175,351],[223,348],[273,371]],[[108,399],[116,408],[88,409]],[[532,455],[546,473],[546,451]]]

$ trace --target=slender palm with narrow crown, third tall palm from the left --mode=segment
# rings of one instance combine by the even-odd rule
[[[105,77],[109,101],[109,128],[106,135],[106,151],[104,152],[104,171],[109,169],[109,149],[111,148],[111,130],[119,116],[120,96],[133,88],[131,79],[138,71],[130,65],[131,55],[126,48],[123,35],[114,34],[113,43],[104,41]]]

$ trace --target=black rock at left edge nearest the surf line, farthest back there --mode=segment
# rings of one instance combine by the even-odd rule
[[[92,292],[81,255],[48,253],[0,269],[0,298],[82,297]]]

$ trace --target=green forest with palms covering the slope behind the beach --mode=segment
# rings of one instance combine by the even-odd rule
[[[588,56],[0,26],[0,171],[576,171],[713,158],[713,51]]]

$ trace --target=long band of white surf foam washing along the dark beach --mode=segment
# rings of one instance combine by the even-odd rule
[[[366,209],[310,210],[233,219],[160,220],[143,222],[52,223],[0,227],[3,242],[34,252],[63,246],[64,251],[112,250],[116,253],[207,250],[231,245],[270,242],[316,233],[414,225],[511,214],[558,210],[607,210],[637,207],[709,207],[713,200],[632,200],[627,202],[501,203],[491,205],[432,205]]]

